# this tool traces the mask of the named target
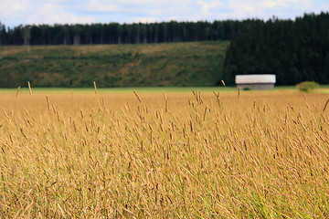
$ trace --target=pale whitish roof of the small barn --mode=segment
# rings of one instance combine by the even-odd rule
[[[274,84],[275,75],[236,75],[236,84]]]

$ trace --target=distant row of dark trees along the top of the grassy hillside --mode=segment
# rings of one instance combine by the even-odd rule
[[[152,24],[32,25],[5,27],[0,45],[142,44],[230,40],[242,27],[234,20]]]

